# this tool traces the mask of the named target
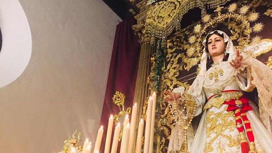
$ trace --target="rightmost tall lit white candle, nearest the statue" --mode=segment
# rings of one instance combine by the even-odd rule
[[[155,129],[155,113],[156,113],[156,92],[152,95],[152,117],[151,117],[151,128],[150,128],[150,140],[149,140],[149,153],[153,153],[153,141],[154,141],[154,129]]]

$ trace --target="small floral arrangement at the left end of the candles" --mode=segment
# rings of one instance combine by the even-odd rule
[[[58,153],[70,153],[71,150],[74,150],[75,153],[81,153],[82,152],[82,146],[79,146],[80,135],[81,133],[78,133],[78,138],[75,138],[75,134],[77,133],[77,130],[74,131],[72,138],[69,137],[63,142],[63,148],[61,152]]]

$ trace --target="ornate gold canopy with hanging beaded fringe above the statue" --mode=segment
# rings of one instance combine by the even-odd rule
[[[162,38],[162,46],[166,45],[166,38],[174,30],[181,30],[181,19],[190,9],[202,9],[202,16],[206,15],[205,5],[208,8],[216,8],[230,0],[167,0],[161,1],[151,7],[147,12],[145,27],[151,34],[151,41],[155,43],[155,37]]]

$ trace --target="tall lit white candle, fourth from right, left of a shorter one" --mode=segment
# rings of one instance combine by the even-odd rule
[[[134,149],[134,140],[135,140],[135,131],[136,131],[136,122],[137,122],[137,103],[134,104],[132,107],[131,113],[131,126],[130,126],[130,140],[129,140],[129,147],[128,153],[133,153]]]

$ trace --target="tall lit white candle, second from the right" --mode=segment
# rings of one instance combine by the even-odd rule
[[[148,151],[149,151],[152,104],[153,104],[153,100],[152,100],[152,97],[150,96],[148,99],[148,102],[147,102],[147,112],[146,112],[147,120],[146,120],[146,129],[145,129],[144,147],[143,147],[144,153],[148,153]]]

